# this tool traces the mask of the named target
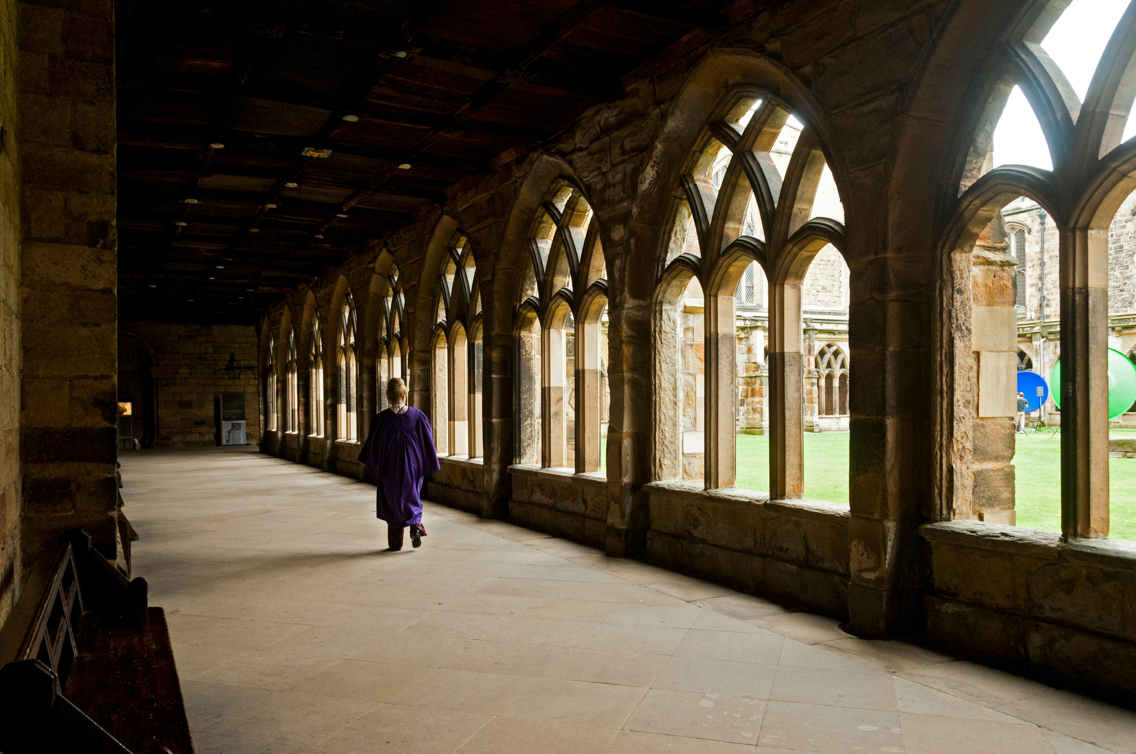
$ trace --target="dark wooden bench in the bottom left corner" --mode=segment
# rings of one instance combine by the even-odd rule
[[[85,531],[68,535],[0,668],[0,752],[193,754],[166,615]]]

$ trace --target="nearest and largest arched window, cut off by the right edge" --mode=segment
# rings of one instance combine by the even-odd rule
[[[1108,345],[1119,344],[1118,325],[1133,303],[1124,290],[1131,286],[1117,285],[1131,260],[1124,238],[1136,207],[1130,6],[1028,3],[1018,39],[999,47],[982,74],[986,107],[972,122],[943,240],[949,253],[970,252],[971,279],[957,266],[946,290],[959,292],[950,317],[969,309],[971,321],[952,328],[946,349],[942,372],[953,388],[942,393],[955,413],[939,460],[942,469],[980,469],[972,485],[947,496],[945,517],[1060,530],[1069,539],[1110,531],[1109,421],[1117,407],[1109,401]],[[1025,321],[1011,312],[1018,307]],[[1052,426],[1060,410],[1060,445],[1028,453],[1029,435],[992,441],[1011,437],[1016,371],[1025,366],[1019,338],[1030,343],[1041,377],[1052,380],[1060,366],[1061,389],[1054,386],[1036,414]],[[987,438],[980,463],[970,460],[976,437]],[[1130,508],[1131,499],[1125,502]]]

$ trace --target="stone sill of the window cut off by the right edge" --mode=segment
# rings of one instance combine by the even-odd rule
[[[1061,542],[1053,531],[961,520],[925,523],[919,534],[934,544],[975,547],[1009,555],[1077,562],[1094,568],[1136,571],[1136,542],[1074,539]]]

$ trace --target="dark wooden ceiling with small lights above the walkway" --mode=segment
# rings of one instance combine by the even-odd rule
[[[119,316],[252,324],[726,5],[119,0]]]

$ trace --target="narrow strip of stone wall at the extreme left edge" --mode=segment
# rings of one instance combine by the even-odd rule
[[[0,12],[0,59],[15,60],[16,2]],[[0,626],[19,592],[20,207],[16,78],[0,79]]]

